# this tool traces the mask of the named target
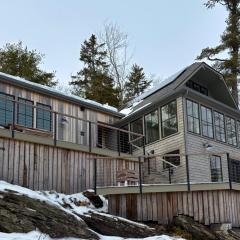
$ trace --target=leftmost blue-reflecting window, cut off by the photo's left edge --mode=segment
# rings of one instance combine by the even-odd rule
[[[6,126],[13,122],[14,96],[0,93],[0,125]]]

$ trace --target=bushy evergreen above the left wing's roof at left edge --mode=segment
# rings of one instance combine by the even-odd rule
[[[45,72],[40,69],[43,55],[36,50],[28,50],[22,45],[7,43],[0,48],[0,72],[25,78],[29,81],[47,86],[55,86],[54,72]]]

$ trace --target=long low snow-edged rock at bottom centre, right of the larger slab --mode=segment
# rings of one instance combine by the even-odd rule
[[[156,235],[155,229],[108,214],[89,212],[81,216],[94,231],[108,236],[124,238],[144,238]]]

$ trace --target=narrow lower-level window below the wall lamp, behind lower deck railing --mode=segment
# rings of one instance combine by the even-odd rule
[[[212,182],[222,182],[223,178],[221,157],[219,156],[210,157],[210,169]]]

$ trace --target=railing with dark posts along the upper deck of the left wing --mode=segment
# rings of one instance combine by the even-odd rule
[[[79,117],[95,117],[86,110],[80,112],[80,107],[76,115],[67,114],[47,109],[44,105],[16,101],[6,95],[0,96],[0,114],[0,126],[10,129],[12,137],[19,131],[53,139],[54,144],[58,141],[79,144],[85,146],[89,152],[93,148],[101,148],[117,152],[119,156],[123,153],[143,153],[143,147],[138,147],[139,151],[136,151],[136,144],[139,141],[144,143],[142,134],[98,122],[97,119]]]

